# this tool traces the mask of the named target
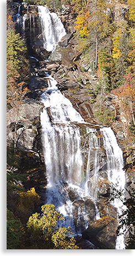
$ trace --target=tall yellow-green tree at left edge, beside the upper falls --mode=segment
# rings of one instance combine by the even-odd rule
[[[12,17],[7,17],[7,78],[18,78],[18,83],[29,83],[30,69],[27,47],[20,34],[16,34]]]

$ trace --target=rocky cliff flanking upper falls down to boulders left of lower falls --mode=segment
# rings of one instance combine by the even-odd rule
[[[19,8],[18,8],[19,7]],[[17,125],[17,146],[21,150],[34,152],[39,162],[42,158],[40,111],[42,105],[39,101],[40,95],[48,87],[46,73],[51,74],[57,81],[57,87],[71,100],[75,109],[80,112],[85,120],[93,120],[93,112],[87,95],[87,83],[94,79],[80,71],[80,65],[75,60],[80,58],[81,52],[77,50],[78,41],[74,38],[74,21],[76,13],[66,11],[60,18],[66,27],[67,34],[61,39],[55,52],[47,52],[43,47],[41,21],[37,6],[22,4],[19,6],[13,3],[12,6],[17,14],[14,15],[14,22],[18,32],[25,38],[28,45],[31,81],[28,93],[23,104],[19,107],[19,114],[16,118],[14,109],[7,114],[8,145],[14,141],[15,120]],[[48,60],[46,60],[49,58]],[[87,67],[88,68],[88,67]],[[13,117],[14,113],[14,117]],[[13,118],[12,118],[13,117]]]

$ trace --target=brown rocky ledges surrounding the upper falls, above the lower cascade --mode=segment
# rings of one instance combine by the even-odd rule
[[[43,47],[38,8],[23,4],[20,9],[21,14],[23,14],[23,26],[21,30],[25,35],[29,55],[31,56],[31,81],[29,85],[31,93],[29,96],[39,99],[42,91],[48,86],[47,72],[55,78],[58,83],[58,89],[63,91],[65,96],[71,100],[73,106],[83,118],[86,121],[92,121],[94,115],[89,102],[90,97],[87,87],[93,83],[93,77],[88,73],[87,75],[82,73],[80,71],[80,65],[76,63],[82,54],[77,49],[78,41],[74,38],[77,13],[71,13],[69,9],[64,14],[60,14],[67,34],[61,38],[55,52],[51,53],[47,52]],[[49,63],[46,62],[47,58],[49,58]],[[83,62],[81,65],[85,65],[85,63]]]

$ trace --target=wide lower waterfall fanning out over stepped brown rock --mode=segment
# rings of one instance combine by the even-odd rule
[[[50,84],[51,86],[51,84]],[[77,235],[100,219],[100,195],[125,187],[122,151],[110,127],[85,122],[55,84],[41,95],[42,144],[47,188],[45,202],[56,205]],[[122,202],[110,203],[117,214]],[[123,237],[116,249],[123,249]]]

